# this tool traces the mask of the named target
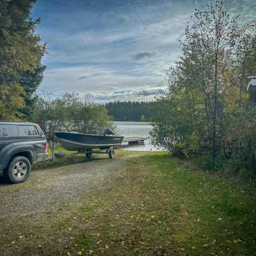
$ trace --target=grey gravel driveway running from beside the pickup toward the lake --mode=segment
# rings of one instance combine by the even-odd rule
[[[1,174],[0,255],[45,255],[44,250],[38,252],[38,246],[49,243],[58,248],[49,247],[46,255],[65,252],[72,241],[67,225],[76,223],[70,220],[76,216],[78,220],[81,212],[86,216],[99,195],[118,187],[120,180],[129,182],[128,164],[148,153],[121,151],[114,159],[76,156],[61,167],[36,170],[34,166],[29,179],[20,184],[4,183]],[[86,219],[80,217],[80,221]]]

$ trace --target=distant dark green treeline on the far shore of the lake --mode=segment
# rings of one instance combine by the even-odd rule
[[[108,115],[115,121],[148,121],[153,102],[115,101],[106,103]]]

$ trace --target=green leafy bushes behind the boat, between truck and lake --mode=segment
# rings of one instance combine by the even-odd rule
[[[107,127],[115,129],[112,118],[103,105],[95,104],[77,93],[65,93],[51,99],[48,93],[38,96],[34,122],[42,122],[47,139],[56,140],[54,131],[76,131],[88,134],[104,134]]]

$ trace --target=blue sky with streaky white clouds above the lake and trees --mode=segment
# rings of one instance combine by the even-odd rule
[[[179,60],[179,40],[205,0],[38,0],[32,17],[47,52],[40,90],[93,102],[154,100]],[[230,15],[255,18],[255,0],[227,0]]]

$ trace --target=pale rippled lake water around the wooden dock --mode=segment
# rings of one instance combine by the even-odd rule
[[[128,145],[122,143],[122,149],[136,151],[160,151],[154,145],[150,144],[149,132],[152,126],[148,122],[115,122],[116,134],[124,137],[143,137],[146,138],[144,145]]]

